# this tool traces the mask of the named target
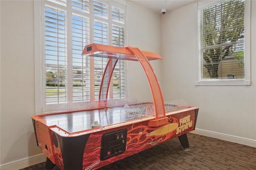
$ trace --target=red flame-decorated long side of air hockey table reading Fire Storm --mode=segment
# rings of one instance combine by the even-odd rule
[[[61,170],[93,170],[106,166],[194,130],[197,113],[198,109],[194,109],[168,115],[168,124],[160,127],[148,127],[148,121],[142,121],[76,137],[60,135],[58,129],[52,127],[49,130],[50,148],[54,155],[52,162]],[[111,146],[102,145],[105,134],[125,131],[127,136],[119,139],[124,140],[125,146],[112,146],[116,139],[110,141]],[[105,152],[105,158],[102,158],[102,152]]]

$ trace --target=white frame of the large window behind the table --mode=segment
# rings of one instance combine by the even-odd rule
[[[100,0],[98,0],[100,1]],[[55,4],[52,3],[50,1],[47,1],[47,4],[52,3],[53,5],[56,6],[63,6],[63,4],[61,4],[62,2],[59,1],[60,4]],[[72,2],[67,2],[67,3],[71,3]],[[93,4],[94,1],[90,1],[90,13],[87,14],[90,17],[92,17],[90,22],[90,32],[92,32],[90,34],[90,43],[94,42],[94,21],[98,19],[98,16],[94,16],[94,12],[93,12]],[[52,6],[53,6],[52,5]],[[105,22],[108,21],[109,24],[109,38],[108,38],[108,44],[112,44],[112,6],[115,7],[119,7],[123,6],[124,7],[124,15],[126,15],[126,2],[122,2],[122,1],[108,1],[108,6],[109,6],[109,21],[106,19],[102,19],[101,22]],[[44,28],[44,8],[45,8],[45,1],[34,1],[34,41],[35,41],[35,112],[36,115],[38,114],[44,114],[44,113],[51,113],[51,112],[58,112],[58,111],[65,111],[65,110],[72,110],[72,107],[74,105],[76,105],[76,102],[73,102],[73,99],[70,99],[70,97],[68,98],[68,101],[64,104],[54,104],[52,105],[52,108],[50,110],[46,110],[46,94],[44,93],[45,91],[45,79],[46,79],[46,75],[45,75],[45,67],[46,67],[46,63],[45,63],[45,48],[44,46],[45,44],[45,39],[44,39],[44,34],[45,34],[45,28]],[[66,12],[71,12],[72,13],[72,5],[70,6],[65,6],[65,10]],[[71,21],[71,23],[69,25],[67,25],[68,29],[70,29],[72,27],[72,15],[67,15],[67,19],[68,21]],[[115,23],[115,22],[114,22]],[[124,30],[126,31],[126,20],[124,20]],[[126,32],[125,32],[126,34]],[[67,35],[67,47],[70,48],[71,50],[68,50],[67,55],[71,55],[72,56],[72,34]],[[127,44],[127,38],[125,38],[124,40],[125,44]],[[70,47],[71,46],[71,47]],[[72,72],[72,57],[68,57],[68,61],[67,62],[71,62],[69,65],[70,68],[68,68],[68,71]],[[94,66],[94,63],[92,63],[90,61],[90,65]],[[125,65],[126,61],[125,61]],[[126,69],[126,68],[125,68]],[[72,75],[72,74],[71,74]],[[90,74],[91,78],[94,78],[94,74]],[[125,73],[125,77],[126,73]],[[125,78],[126,79],[126,78]],[[73,81],[71,79],[71,81],[68,81],[68,86],[70,86],[70,83],[72,84]],[[127,83],[127,81],[126,81]],[[68,87],[67,87],[68,88]],[[91,88],[91,91],[94,91],[94,87]],[[68,93],[71,93],[71,98],[72,98],[72,93],[73,93],[73,89],[68,89]],[[121,93],[121,91],[120,91]],[[125,89],[125,93],[127,94],[127,89]],[[92,95],[91,95],[92,96]],[[94,95],[93,95],[94,97]],[[94,99],[94,98],[93,98]]]

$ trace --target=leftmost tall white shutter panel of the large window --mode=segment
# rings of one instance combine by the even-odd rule
[[[64,10],[45,7],[46,104],[67,100],[67,17]]]

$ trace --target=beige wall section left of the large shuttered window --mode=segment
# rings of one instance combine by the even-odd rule
[[[34,93],[34,3],[1,3],[1,162],[40,153],[31,116]]]

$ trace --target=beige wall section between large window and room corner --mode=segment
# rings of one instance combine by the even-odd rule
[[[127,9],[128,45],[161,55],[161,15],[133,2],[128,2]],[[162,60],[150,63],[161,84]],[[129,61],[128,64],[129,96],[135,96],[139,101],[152,101],[150,87],[142,67],[136,61]]]

